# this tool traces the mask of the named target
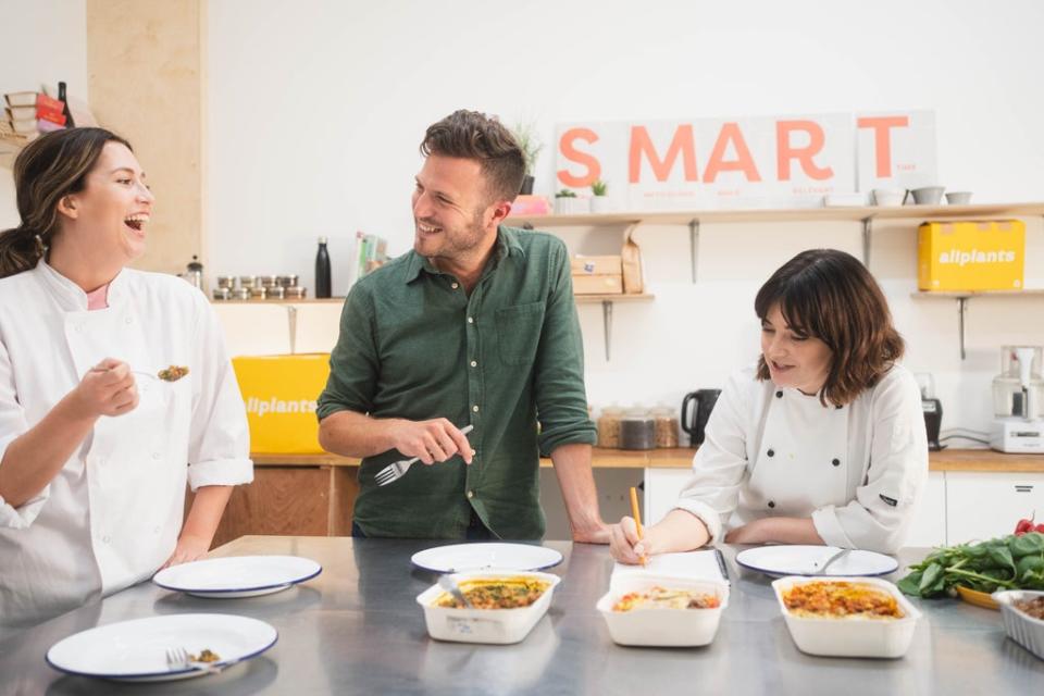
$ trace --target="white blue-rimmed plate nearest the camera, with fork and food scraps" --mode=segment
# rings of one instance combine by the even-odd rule
[[[59,641],[47,663],[60,672],[122,682],[163,682],[208,674],[194,667],[171,668],[166,651],[184,648],[217,655],[228,667],[261,655],[278,633],[257,619],[217,613],[176,613],[110,623]]]

